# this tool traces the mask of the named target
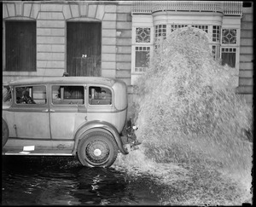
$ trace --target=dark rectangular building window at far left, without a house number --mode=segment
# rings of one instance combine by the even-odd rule
[[[36,71],[36,22],[6,21],[6,71]]]

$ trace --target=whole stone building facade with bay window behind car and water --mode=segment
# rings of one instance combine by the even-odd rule
[[[119,78],[131,106],[134,81],[147,69],[140,60],[152,55],[155,37],[181,26],[207,32],[218,55],[236,53],[238,92],[252,105],[253,3],[3,1],[3,82],[63,72]]]

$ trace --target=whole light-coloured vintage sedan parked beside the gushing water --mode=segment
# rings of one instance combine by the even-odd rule
[[[21,79],[3,84],[3,94],[3,155],[77,156],[109,167],[139,144],[118,79]]]

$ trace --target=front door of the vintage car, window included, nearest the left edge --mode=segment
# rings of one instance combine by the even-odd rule
[[[15,103],[9,110],[14,115],[11,126],[15,128],[16,138],[50,139],[46,91],[44,84],[15,87]]]

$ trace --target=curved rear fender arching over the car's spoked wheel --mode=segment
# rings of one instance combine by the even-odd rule
[[[92,131],[103,131],[108,133],[108,135],[112,135],[114,140],[116,141],[119,151],[123,154],[128,154],[129,152],[123,147],[123,143],[121,141],[119,132],[117,129],[114,128],[113,124],[110,124],[105,121],[101,120],[94,120],[87,122],[79,127],[74,135],[74,147],[73,147],[73,154],[77,152],[77,147],[79,145],[79,140],[84,137],[84,135],[92,132]]]

